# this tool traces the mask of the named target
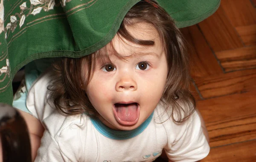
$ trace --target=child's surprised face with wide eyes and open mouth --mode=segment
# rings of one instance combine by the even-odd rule
[[[113,47],[127,57],[110,54],[113,64],[97,63],[85,89],[101,115],[99,119],[116,130],[135,129],[151,115],[163,95],[168,73],[166,53],[156,29],[140,22],[127,30],[137,39],[154,40],[155,45],[137,45],[115,36]]]

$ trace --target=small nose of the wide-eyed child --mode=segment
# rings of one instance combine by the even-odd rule
[[[121,78],[117,83],[116,83],[116,91],[121,92],[124,90],[131,90],[135,91],[137,90],[137,83],[134,81],[132,78]]]

